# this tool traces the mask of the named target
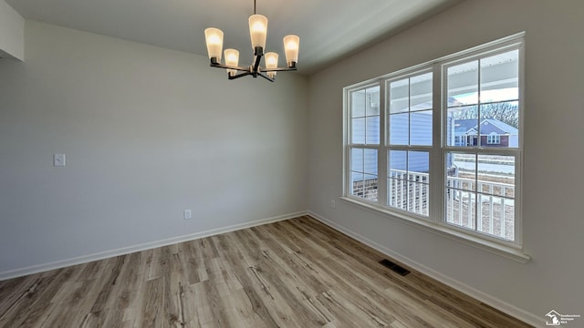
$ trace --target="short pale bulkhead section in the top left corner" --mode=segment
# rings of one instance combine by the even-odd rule
[[[25,19],[0,0],[0,58],[25,58]]]

